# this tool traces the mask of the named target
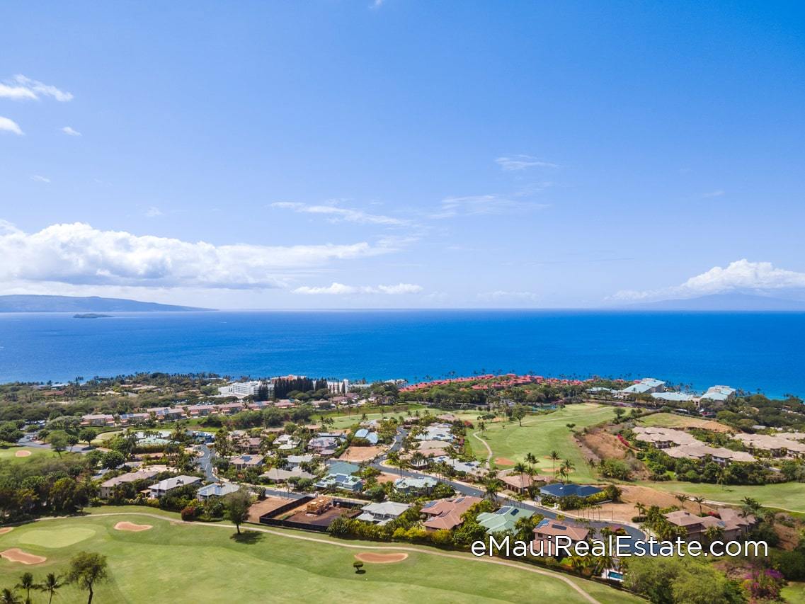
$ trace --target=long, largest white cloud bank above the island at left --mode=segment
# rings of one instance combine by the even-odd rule
[[[370,245],[215,246],[175,238],[97,230],[76,222],[25,233],[0,221],[0,283],[57,282],[141,287],[272,288],[290,271],[320,268],[337,260],[386,254]]]

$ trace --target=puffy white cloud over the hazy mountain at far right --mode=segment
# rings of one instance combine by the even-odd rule
[[[754,263],[742,259],[728,267],[713,267],[701,275],[670,288],[637,292],[617,292],[614,300],[655,300],[669,297],[691,298],[725,292],[774,292],[805,289],[805,273],[786,271],[772,263]]]

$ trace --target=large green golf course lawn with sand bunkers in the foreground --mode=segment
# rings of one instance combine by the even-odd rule
[[[253,532],[233,539],[227,527],[171,518],[147,518],[125,508],[126,515],[101,516],[109,508],[84,518],[45,520],[14,527],[0,536],[0,551],[20,548],[47,561],[25,566],[0,560],[0,588],[11,587],[26,571],[35,581],[48,572],[64,573],[76,552],[99,552],[109,561],[109,581],[98,585],[95,602],[587,602],[559,578],[546,577],[500,565],[456,560],[409,552],[407,560],[365,565],[356,574],[353,555],[361,549],[326,535],[283,532],[275,536]],[[122,532],[122,520],[151,524],[144,532]],[[248,530],[248,529],[246,529]],[[56,535],[48,540],[47,536]],[[314,543],[289,536],[324,539]],[[377,545],[377,544],[366,544]],[[409,546],[405,546],[409,547]],[[433,550],[436,551],[436,550]],[[629,594],[605,585],[572,578],[599,602],[638,602]],[[58,592],[55,602],[85,602],[72,585]],[[235,595],[237,594],[237,596]],[[32,594],[33,602],[47,602]],[[23,596],[24,597],[24,596]]]

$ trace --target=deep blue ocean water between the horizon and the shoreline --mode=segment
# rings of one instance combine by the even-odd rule
[[[137,371],[424,379],[498,370],[805,395],[805,313],[0,313],[0,382]]]

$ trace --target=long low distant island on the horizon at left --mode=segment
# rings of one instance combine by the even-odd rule
[[[98,296],[0,296],[0,312],[188,312],[208,311],[212,308],[176,306],[140,302],[124,298],[101,298]],[[76,316],[76,318],[100,318],[100,316]]]

